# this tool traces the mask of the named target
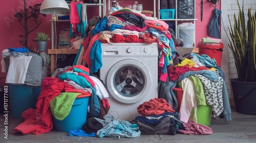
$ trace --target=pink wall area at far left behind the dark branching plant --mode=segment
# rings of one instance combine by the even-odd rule
[[[27,6],[33,6],[34,4],[40,4],[42,0],[27,0]],[[18,23],[18,20],[15,18],[15,14],[19,11],[24,10],[24,1],[20,0],[11,0],[11,1],[3,1],[1,3],[2,11],[0,13],[1,21],[0,21],[0,28],[1,28],[1,55],[0,58],[2,59],[2,51],[4,49],[10,47],[22,47],[19,44],[21,38],[19,35],[25,35],[24,28],[22,25]],[[41,21],[41,24],[38,26],[36,30],[28,35],[28,45],[36,48],[36,43],[32,40],[36,36],[36,32],[44,32],[48,35],[51,35],[51,25],[50,20],[51,16],[47,15],[46,17],[39,15],[38,21]],[[34,27],[33,22],[28,22],[28,28]],[[51,43],[48,42],[48,47],[51,47]],[[2,71],[2,66],[0,68]],[[6,73],[1,72],[0,76],[5,76]],[[2,81],[1,81],[2,83]]]

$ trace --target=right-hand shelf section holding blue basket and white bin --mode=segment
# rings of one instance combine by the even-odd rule
[[[154,0],[156,1],[156,0]],[[177,39],[181,38],[183,47],[193,48],[196,41],[195,0],[159,0],[158,19],[163,20],[173,28]],[[186,34],[184,36],[184,34]]]

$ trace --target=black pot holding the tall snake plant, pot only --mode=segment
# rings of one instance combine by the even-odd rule
[[[256,82],[242,82],[230,79],[236,111],[246,115],[256,115]]]

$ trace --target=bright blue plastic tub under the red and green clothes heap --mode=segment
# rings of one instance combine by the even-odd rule
[[[62,121],[53,118],[53,125],[56,131],[70,132],[70,130],[83,129],[87,120],[87,108],[89,97],[79,95],[76,97],[69,115]]]

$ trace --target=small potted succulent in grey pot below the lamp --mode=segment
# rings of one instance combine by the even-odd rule
[[[37,42],[37,48],[40,51],[46,51],[47,41],[49,41],[50,39],[51,38],[49,37],[49,35],[41,32],[36,32],[36,37],[34,41]]]

